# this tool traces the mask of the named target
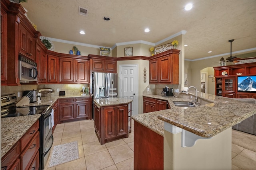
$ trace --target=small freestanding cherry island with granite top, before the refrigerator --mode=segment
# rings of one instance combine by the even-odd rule
[[[124,98],[94,99],[94,128],[101,145],[128,137],[131,103],[132,100]]]

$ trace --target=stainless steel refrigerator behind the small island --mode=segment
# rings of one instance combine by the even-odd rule
[[[117,97],[117,74],[94,72],[92,73],[92,93],[94,98]]]

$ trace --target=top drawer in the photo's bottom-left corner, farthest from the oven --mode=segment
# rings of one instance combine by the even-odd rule
[[[20,155],[20,142],[18,141],[12,147],[12,149],[10,149],[2,158],[1,167],[6,168],[6,170],[10,169],[10,167],[14,164],[14,161],[16,161],[19,155]]]

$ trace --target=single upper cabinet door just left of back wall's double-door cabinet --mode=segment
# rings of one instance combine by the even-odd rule
[[[48,55],[48,82],[57,83],[58,82],[58,57]]]

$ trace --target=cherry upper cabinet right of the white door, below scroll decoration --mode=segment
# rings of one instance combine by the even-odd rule
[[[179,84],[179,53],[172,49],[150,57],[149,83]]]

